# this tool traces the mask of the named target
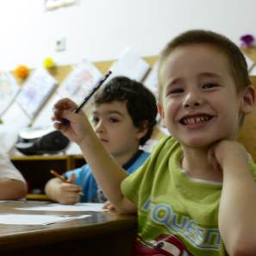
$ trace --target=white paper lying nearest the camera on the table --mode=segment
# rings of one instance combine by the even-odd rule
[[[90,217],[91,215],[20,215],[0,214],[0,224],[48,225]]]

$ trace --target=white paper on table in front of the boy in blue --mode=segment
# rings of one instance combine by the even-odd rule
[[[15,208],[25,210],[47,210],[47,211],[106,211],[102,209],[103,203],[76,203],[74,205],[63,205],[60,203],[51,203],[44,206],[34,206],[26,208]]]

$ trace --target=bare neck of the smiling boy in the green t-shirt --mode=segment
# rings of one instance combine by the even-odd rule
[[[190,177],[222,182],[222,173],[215,172],[213,165],[209,164],[209,148],[183,147],[184,157],[181,160],[181,168]]]

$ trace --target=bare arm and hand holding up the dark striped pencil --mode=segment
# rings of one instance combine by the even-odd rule
[[[97,184],[116,209],[123,214],[136,213],[137,208],[134,203],[124,197],[121,191],[122,180],[128,177],[128,172],[125,172],[103,147],[84,112],[81,110],[78,114],[72,112],[76,107],[77,104],[67,98],[59,100],[54,105],[52,120],[64,122],[67,119],[69,123],[64,126],[62,123],[55,122],[54,128],[78,144]]]

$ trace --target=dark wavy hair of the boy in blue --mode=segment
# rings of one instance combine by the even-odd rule
[[[140,139],[140,145],[145,145],[153,132],[158,113],[153,93],[135,80],[116,77],[97,92],[93,104],[97,106],[114,100],[126,103],[128,114],[132,117],[135,127],[139,128],[142,122],[148,122],[147,134]]]

